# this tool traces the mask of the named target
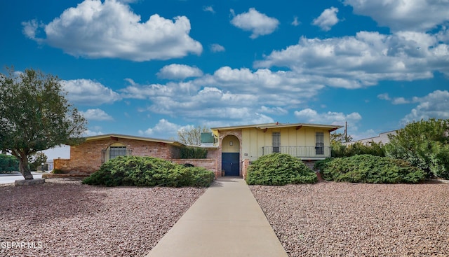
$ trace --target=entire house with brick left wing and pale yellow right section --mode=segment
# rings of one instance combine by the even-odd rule
[[[281,124],[213,127],[201,135],[206,159],[180,159],[184,144],[166,139],[103,134],[70,147],[69,159],[55,159],[55,169],[74,175],[91,174],[120,155],[152,156],[179,164],[205,167],[215,176],[246,176],[250,162],[270,153],[288,153],[304,161],[330,157],[330,132],[339,125]],[[49,174],[48,176],[51,176]]]

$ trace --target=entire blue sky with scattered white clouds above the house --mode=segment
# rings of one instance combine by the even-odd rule
[[[1,72],[62,79],[86,135],[449,118],[449,1],[0,1]],[[337,132],[343,132],[342,129]]]

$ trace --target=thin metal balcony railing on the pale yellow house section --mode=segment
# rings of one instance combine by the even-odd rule
[[[288,153],[299,158],[328,158],[330,146],[262,146],[262,155]]]

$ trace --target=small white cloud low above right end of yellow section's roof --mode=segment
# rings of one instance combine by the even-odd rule
[[[332,124],[332,125],[344,125],[348,123],[358,123],[362,116],[359,113],[337,113],[328,111],[327,113],[318,113],[313,109],[302,109],[301,111],[295,111],[295,117],[304,123],[317,123],[317,124]]]

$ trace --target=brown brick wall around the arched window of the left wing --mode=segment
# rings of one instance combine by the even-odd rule
[[[132,155],[136,156],[152,156],[169,160],[179,158],[180,155],[179,148],[165,143],[120,138],[98,139],[86,141],[79,146],[71,146],[70,160],[64,162],[65,169],[63,170],[72,173],[95,172],[102,165],[102,150],[115,143],[125,145],[128,150],[132,151]]]

